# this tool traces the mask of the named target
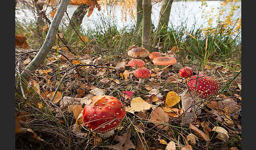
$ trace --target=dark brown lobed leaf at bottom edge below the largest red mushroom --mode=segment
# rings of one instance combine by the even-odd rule
[[[110,145],[109,148],[113,148],[117,150],[129,150],[129,148],[135,149],[135,145],[132,143],[130,138],[131,138],[131,130],[129,129],[123,135],[116,135],[114,140],[119,143],[115,145]]]

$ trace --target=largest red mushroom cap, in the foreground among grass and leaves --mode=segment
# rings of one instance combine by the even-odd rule
[[[122,102],[115,97],[104,95],[92,105],[85,105],[83,121],[95,132],[106,132],[116,128],[125,116]]]

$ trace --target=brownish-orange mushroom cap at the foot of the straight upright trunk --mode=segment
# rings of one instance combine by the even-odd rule
[[[144,47],[133,46],[131,50],[127,52],[127,55],[133,58],[145,58],[149,56],[150,52]]]

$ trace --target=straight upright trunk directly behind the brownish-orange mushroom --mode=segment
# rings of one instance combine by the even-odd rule
[[[143,0],[142,47],[151,50],[151,0]]]

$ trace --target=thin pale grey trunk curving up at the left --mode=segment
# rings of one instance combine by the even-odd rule
[[[51,50],[56,40],[56,33],[58,26],[61,23],[61,19],[66,11],[67,5],[70,0],[62,0],[61,4],[58,6],[57,12],[53,18],[53,21],[50,25],[46,38],[44,40],[44,44],[41,49],[38,51],[35,58],[26,66],[26,68],[22,71],[21,77],[28,81],[29,73],[36,70],[45,60],[47,53]],[[17,84],[18,86],[19,84]],[[19,87],[17,87],[19,88]]]

